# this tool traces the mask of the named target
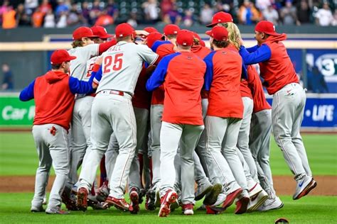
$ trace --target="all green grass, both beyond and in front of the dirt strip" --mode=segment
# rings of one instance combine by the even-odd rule
[[[303,135],[311,169],[315,175],[337,175],[336,135]],[[282,152],[272,139],[271,165],[273,175],[291,175]],[[31,133],[0,133],[0,176],[34,175],[38,157]],[[337,183],[336,183],[337,184]],[[158,218],[157,211],[138,215],[123,213],[115,208],[107,211],[80,211],[70,215],[30,213],[33,193],[0,193],[1,223],[274,223],[280,217],[290,223],[337,223],[336,196],[306,196],[293,201],[291,196],[281,196],[284,208],[265,213],[234,215],[234,206],[220,215],[205,215],[195,211],[193,216],[181,215],[181,209],[169,218]],[[198,207],[200,202],[197,203]]]

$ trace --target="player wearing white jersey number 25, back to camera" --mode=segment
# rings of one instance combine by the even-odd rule
[[[130,211],[133,209],[124,199],[124,189],[137,145],[137,127],[131,100],[142,63],[145,61],[152,65],[158,55],[145,45],[134,44],[136,33],[128,23],[119,24],[115,33],[117,45],[102,55],[103,63],[99,70],[102,78],[95,80],[100,85],[92,103],[92,150],[82,164],[77,191],[77,206],[82,211],[87,209],[87,194],[100,159],[107,150],[112,131],[117,138],[119,154],[109,179],[110,194],[105,206],[114,205]]]

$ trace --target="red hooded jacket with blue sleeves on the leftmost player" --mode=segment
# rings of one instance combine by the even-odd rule
[[[89,82],[84,82],[63,72],[49,71],[23,89],[20,100],[35,99],[34,125],[54,123],[69,130],[75,94],[88,94],[93,91],[93,78],[92,76]]]

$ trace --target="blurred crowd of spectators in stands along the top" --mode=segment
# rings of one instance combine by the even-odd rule
[[[1,1],[0,1],[1,2]],[[33,26],[109,26],[175,23],[208,24],[218,11],[231,13],[235,23],[337,26],[336,0],[4,0],[0,6],[2,28]]]

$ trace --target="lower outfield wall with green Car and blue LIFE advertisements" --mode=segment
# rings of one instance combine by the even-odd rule
[[[272,103],[272,96],[267,96]],[[0,128],[29,128],[34,101],[21,102],[18,93],[0,94]],[[337,94],[307,94],[302,130],[337,132]]]

